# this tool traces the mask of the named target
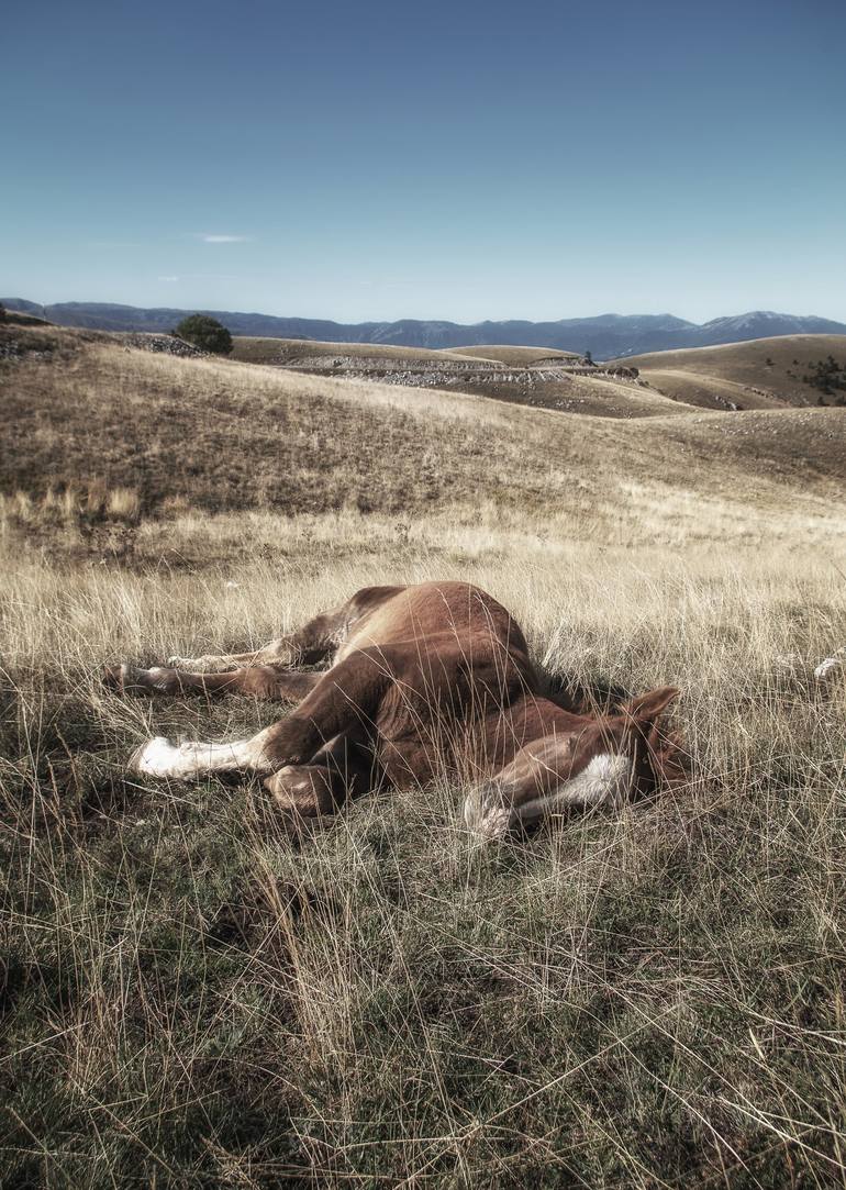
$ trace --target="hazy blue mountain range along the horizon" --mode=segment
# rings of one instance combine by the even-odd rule
[[[0,299],[8,309],[45,318],[59,326],[104,331],[169,331],[186,314],[211,314],[233,334],[270,339],[317,339],[321,343],[382,343],[406,347],[464,347],[502,344],[590,351],[595,359],[618,359],[651,351],[707,347],[779,334],[846,334],[846,324],[826,318],[753,311],[715,318],[697,326],[672,314],[600,314],[556,322],[459,322],[402,319],[399,322],[332,322],[312,318],[276,318],[232,311],[144,309],[108,302],[59,302],[39,306],[20,298]]]

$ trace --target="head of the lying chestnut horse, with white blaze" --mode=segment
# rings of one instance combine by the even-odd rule
[[[650,690],[618,714],[579,719],[521,749],[510,764],[475,789],[464,820],[478,834],[505,838],[518,826],[568,806],[620,804],[683,775],[673,738],[662,716],[675,687]]]

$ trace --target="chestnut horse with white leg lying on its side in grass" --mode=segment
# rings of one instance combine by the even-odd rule
[[[320,662],[328,669],[295,668]],[[424,785],[446,764],[471,778],[468,826],[503,838],[564,807],[616,806],[681,774],[660,729],[676,689],[650,690],[615,714],[575,714],[541,693],[510,614],[460,582],[368,587],[256,652],[120,665],[106,678],[127,691],[296,703],[252,739],[159,737],[131,760],[157,777],[256,772],[294,822],[353,793]]]

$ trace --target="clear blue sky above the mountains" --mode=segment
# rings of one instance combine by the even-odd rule
[[[842,0],[17,4],[0,293],[846,320]]]

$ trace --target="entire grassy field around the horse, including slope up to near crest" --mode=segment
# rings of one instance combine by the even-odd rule
[[[0,364],[0,1184],[846,1184],[846,411],[40,347]],[[426,577],[556,683],[677,684],[690,781],[480,848],[449,774],[299,841],[257,782],[126,774],[284,712],[102,665]]]

